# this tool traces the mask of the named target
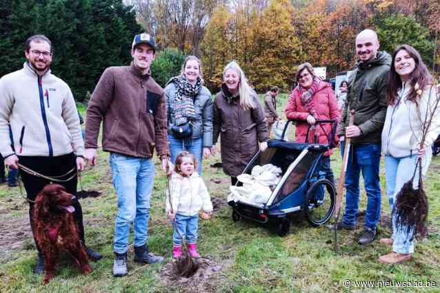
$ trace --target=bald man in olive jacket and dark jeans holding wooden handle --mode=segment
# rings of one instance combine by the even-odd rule
[[[362,172],[368,197],[366,220],[358,243],[374,241],[381,215],[381,186],[379,162],[381,132],[386,116],[386,76],[391,56],[378,52],[376,32],[363,30],[356,38],[357,68],[348,78],[347,102],[343,109],[339,136],[352,140],[346,173],[346,210],[337,228],[354,230],[359,206],[359,179]],[[354,124],[348,126],[350,111],[354,110]]]

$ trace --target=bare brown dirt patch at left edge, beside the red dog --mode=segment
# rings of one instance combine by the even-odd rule
[[[16,217],[13,221],[0,221],[0,259],[3,263],[12,259],[12,254],[24,249],[24,243],[32,239],[29,218]],[[33,241],[32,241],[33,243]]]

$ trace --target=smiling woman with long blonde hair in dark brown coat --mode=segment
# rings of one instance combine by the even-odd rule
[[[257,93],[248,85],[239,65],[232,61],[223,69],[221,91],[214,100],[214,136],[211,153],[221,135],[221,163],[232,185],[252,156],[268,148],[268,126]]]

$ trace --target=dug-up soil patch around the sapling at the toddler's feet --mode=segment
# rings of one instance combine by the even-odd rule
[[[199,270],[190,278],[177,276],[173,272],[173,261],[167,263],[161,270],[161,280],[171,290],[179,288],[179,292],[216,292],[219,284],[224,281],[222,270],[232,263],[216,263],[212,259],[198,259]]]

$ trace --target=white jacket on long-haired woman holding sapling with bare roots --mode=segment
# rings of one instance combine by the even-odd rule
[[[429,120],[427,117],[432,116],[433,119],[428,135],[426,135],[425,146],[430,147],[440,133],[440,102],[436,111],[433,112],[438,99],[435,96],[435,88],[429,87],[423,91],[421,98],[417,101],[418,105],[407,100],[409,92],[410,85],[403,83],[402,89],[397,93],[396,105],[388,105],[386,111],[382,130],[382,153],[392,155],[394,158],[403,158],[411,153],[418,153],[423,123],[428,124],[427,120]]]

